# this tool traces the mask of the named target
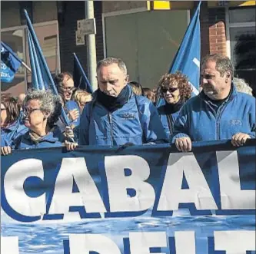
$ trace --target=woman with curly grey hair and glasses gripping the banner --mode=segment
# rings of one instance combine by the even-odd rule
[[[12,149],[61,147],[62,137],[55,126],[61,108],[59,97],[51,91],[28,93],[23,101],[24,122],[28,131],[12,142]],[[11,153],[11,147],[2,147],[1,153]]]

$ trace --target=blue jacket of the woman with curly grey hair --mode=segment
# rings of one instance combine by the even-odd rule
[[[35,142],[31,139],[29,131],[19,136],[12,142],[12,149],[35,149],[45,147],[62,147],[62,142],[59,137],[56,137],[53,132],[49,132],[45,137]]]

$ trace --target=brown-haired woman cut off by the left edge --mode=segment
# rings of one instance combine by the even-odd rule
[[[1,146],[10,143],[27,128],[20,122],[20,104],[14,97],[2,96],[1,103]]]

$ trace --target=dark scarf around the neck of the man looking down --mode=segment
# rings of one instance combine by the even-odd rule
[[[98,89],[96,91],[97,101],[108,109],[108,111],[113,112],[118,110],[118,108],[123,107],[129,99],[130,90],[128,85],[126,85],[118,94],[118,97],[113,97],[105,94]]]

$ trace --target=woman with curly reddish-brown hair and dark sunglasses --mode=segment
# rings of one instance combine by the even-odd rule
[[[175,74],[165,74],[158,82],[161,97],[165,99],[165,105],[158,107],[158,114],[168,138],[171,137],[173,126],[178,113],[185,101],[191,97],[191,86],[188,78],[176,72]]]

